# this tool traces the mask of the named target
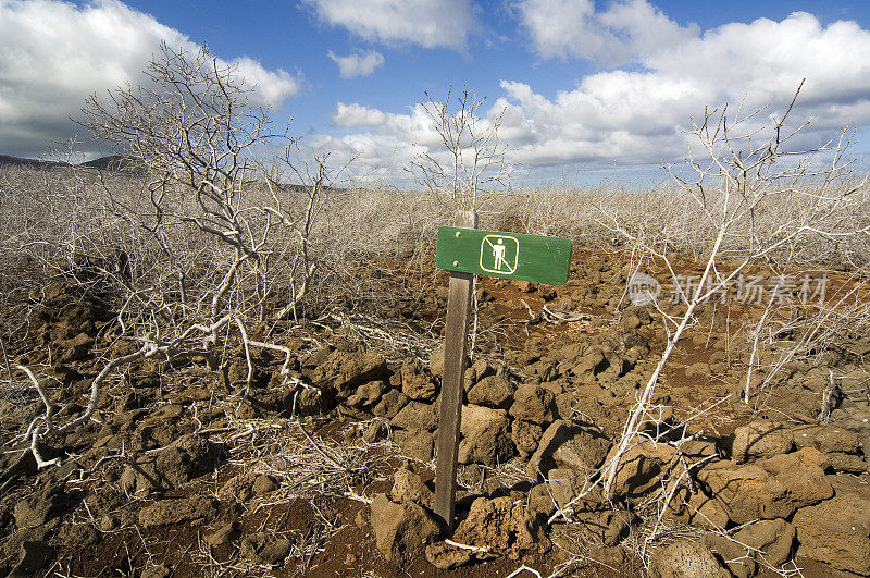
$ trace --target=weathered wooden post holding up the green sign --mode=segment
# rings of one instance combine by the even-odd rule
[[[477,214],[460,211],[456,226],[477,229]],[[459,234],[457,232],[457,234]],[[471,313],[471,273],[450,272],[445,325],[442,409],[438,421],[438,455],[435,469],[435,514],[447,531],[453,528],[456,508],[456,469],[459,451],[459,425],[462,419],[462,381],[468,361],[469,317]]]

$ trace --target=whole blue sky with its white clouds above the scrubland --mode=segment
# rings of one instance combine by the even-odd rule
[[[488,118],[507,110],[502,135],[532,182],[660,174],[705,106],[775,112],[803,77],[806,144],[849,124],[865,162],[868,30],[863,1],[0,0],[0,153],[45,156],[73,135],[104,152],[70,116],[135,84],[166,40],[244,58],[278,122],[338,160],[359,155],[352,174],[373,181],[400,181],[432,145],[417,104],[450,85],[486,96]],[[348,57],[372,65],[344,77]]]

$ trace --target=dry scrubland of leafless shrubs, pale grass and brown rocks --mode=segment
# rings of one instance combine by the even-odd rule
[[[800,521],[837,496],[870,504],[870,188],[843,143],[794,155],[788,113],[744,134],[753,114],[723,111],[670,185],[521,190],[497,122],[475,124],[464,94],[458,113],[430,101],[450,155],[413,164],[426,193],[347,188],[214,62],[166,50],[153,88],[88,103],[124,170],[0,168],[0,570],[428,571],[402,542],[420,532],[432,564],[492,561],[482,574],[668,575],[686,543],[709,548],[674,571],[798,575],[795,554],[865,571],[860,552],[807,545],[817,528]],[[254,155],[276,143],[283,157]],[[478,283],[467,497],[444,541],[425,514],[433,261],[460,208],[577,250],[564,288]],[[646,304],[637,273],[662,284]],[[735,293],[749,279],[763,298]],[[824,298],[804,279],[825,279]],[[734,505],[732,482],[780,494]],[[387,536],[390,516],[405,526]],[[360,546],[373,533],[380,554]],[[102,552],[76,552],[100,537]]]

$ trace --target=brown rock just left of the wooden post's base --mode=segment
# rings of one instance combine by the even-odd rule
[[[408,562],[438,536],[435,520],[412,502],[397,504],[386,494],[377,494],[371,511],[375,545],[389,562]]]

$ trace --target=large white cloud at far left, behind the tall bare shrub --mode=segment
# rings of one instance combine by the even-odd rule
[[[142,71],[165,41],[194,51],[187,36],[114,0],[76,7],[58,0],[0,0],[0,152],[40,156],[80,127],[91,94],[145,81]],[[281,107],[299,81],[240,57],[221,61],[256,90],[257,104]],[[83,135],[84,136],[84,135]]]

